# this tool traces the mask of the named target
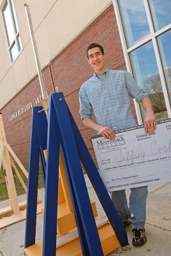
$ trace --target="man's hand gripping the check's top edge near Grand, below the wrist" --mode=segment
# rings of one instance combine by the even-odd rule
[[[144,129],[146,134],[152,134],[156,130],[156,119],[153,111],[148,111],[145,114]]]

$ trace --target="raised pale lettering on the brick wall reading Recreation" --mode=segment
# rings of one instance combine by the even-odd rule
[[[42,99],[42,97],[41,97],[41,95],[39,95],[38,97],[36,97],[36,99],[34,99],[31,102],[27,103],[25,106],[23,106],[22,108],[17,110],[15,113],[10,115],[8,117],[8,121],[11,122],[12,120],[15,120],[18,116],[20,116],[20,115],[24,114],[25,112],[27,112],[29,109],[38,106],[38,104],[40,104],[41,99]]]

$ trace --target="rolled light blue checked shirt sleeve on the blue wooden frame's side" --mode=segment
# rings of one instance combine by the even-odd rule
[[[85,117],[92,118],[92,106],[89,102],[89,99],[87,97],[87,93],[85,92],[85,88],[82,85],[79,92],[79,101],[80,101],[80,116],[81,120],[83,120]]]

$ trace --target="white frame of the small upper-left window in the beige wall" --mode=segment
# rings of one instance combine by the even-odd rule
[[[15,12],[15,3],[13,1],[13,4],[12,4],[11,1],[13,1],[13,0],[4,0],[1,3],[1,17],[2,17],[2,20],[3,20],[4,35],[5,35],[5,38],[6,38],[6,47],[8,49],[8,55],[9,55],[9,58],[10,58],[10,63],[12,64],[17,59],[20,52],[22,51],[22,41],[20,39],[20,43],[19,43],[20,31],[19,30],[17,31],[17,28],[19,28],[19,24],[17,22],[17,15],[16,15],[16,12]],[[8,38],[8,29],[6,27],[6,20],[4,18],[4,9],[7,6],[9,6],[9,8],[10,8],[10,15],[11,15],[11,20],[12,20],[12,24],[13,24],[13,31],[15,33],[15,36],[14,36],[13,41],[11,42],[11,44],[10,44],[10,40]],[[13,56],[11,54],[11,50],[13,49],[14,45],[17,45],[17,50],[18,50],[17,57],[15,59],[13,59]]]

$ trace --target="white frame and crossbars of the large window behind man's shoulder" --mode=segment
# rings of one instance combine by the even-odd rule
[[[155,32],[148,0],[143,0],[143,1],[144,1],[145,12],[147,14],[147,20],[148,20],[148,23],[149,23],[150,35],[147,35],[142,40],[139,40],[135,45],[131,46],[130,48],[127,48],[126,38],[125,38],[125,35],[124,35],[124,29],[123,29],[123,24],[122,24],[122,20],[121,20],[121,14],[120,14],[120,11],[119,11],[118,0],[112,0],[113,5],[114,5],[115,17],[116,17],[116,20],[117,20],[117,26],[118,26],[118,29],[119,29],[119,35],[120,35],[120,38],[121,38],[121,45],[123,47],[124,60],[125,60],[126,68],[127,68],[128,72],[130,72],[130,74],[133,75],[129,53],[131,51],[137,49],[138,47],[144,45],[145,43],[147,43],[149,41],[152,41],[152,45],[154,47],[154,54],[156,56],[156,62],[157,62],[158,70],[159,70],[159,74],[160,74],[161,86],[163,88],[163,96],[164,96],[164,99],[165,99],[168,118],[171,118],[170,100],[169,100],[169,97],[168,97],[167,84],[166,84],[166,81],[165,81],[165,75],[164,75],[164,71],[163,71],[163,67],[162,67],[160,51],[159,51],[159,47],[158,47],[158,43],[157,43],[157,36],[160,36],[161,34],[165,33],[169,29],[171,29],[171,24],[168,24],[164,28]],[[142,124],[142,114],[140,112],[140,106],[136,102],[135,99],[133,99],[133,102],[134,102],[134,106],[135,106],[135,111],[136,111],[136,115],[137,115],[138,124]]]

